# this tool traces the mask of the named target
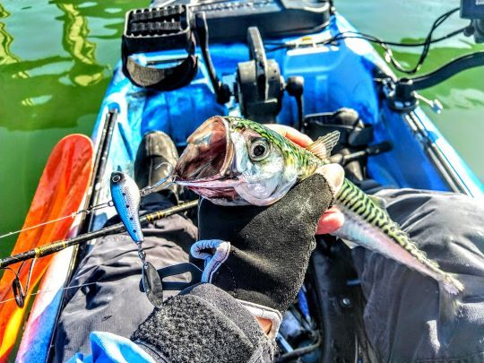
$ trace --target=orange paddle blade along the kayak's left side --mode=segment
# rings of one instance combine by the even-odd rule
[[[40,177],[22,229],[70,215],[80,209],[91,182],[93,153],[91,139],[82,134],[65,136],[56,144]],[[73,219],[68,218],[23,231],[17,238],[12,255],[67,238],[72,223]],[[49,255],[36,261],[30,277],[30,288],[25,291],[25,307],[28,306],[30,294],[46,272],[51,259],[52,255]],[[19,266],[20,264],[13,264],[11,267],[17,271]],[[29,267],[30,262],[26,262],[19,274],[24,288]],[[14,277],[12,271],[5,270],[0,281],[0,301],[7,300],[0,303],[0,362],[8,359],[25,313],[25,308],[18,307],[13,297]]]

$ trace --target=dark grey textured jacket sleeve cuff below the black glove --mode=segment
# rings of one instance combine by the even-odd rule
[[[155,308],[131,339],[161,362],[272,362],[275,351],[246,307],[208,283]]]

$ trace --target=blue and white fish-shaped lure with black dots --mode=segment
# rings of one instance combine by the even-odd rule
[[[143,242],[140,224],[140,191],[131,177],[115,171],[110,177],[111,197],[119,218],[125,225],[129,236],[136,243]]]

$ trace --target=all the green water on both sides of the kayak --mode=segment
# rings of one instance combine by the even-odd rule
[[[11,0],[0,2],[0,234],[20,229],[41,171],[65,134],[91,134],[114,66],[124,13],[147,0]],[[457,1],[336,0],[361,31],[389,40],[420,40]],[[454,16],[437,35],[462,27]],[[432,48],[422,72],[484,46],[458,37]],[[404,51],[404,52],[403,52]],[[417,51],[395,49],[403,64]],[[484,69],[422,92],[445,110],[431,117],[481,180],[484,163]],[[0,242],[7,255],[14,238]]]

